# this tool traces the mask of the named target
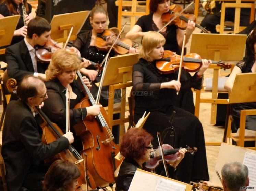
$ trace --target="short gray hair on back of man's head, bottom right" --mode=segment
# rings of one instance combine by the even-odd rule
[[[222,178],[227,187],[232,191],[239,191],[241,186],[246,186],[248,168],[240,162],[228,162],[221,170]]]

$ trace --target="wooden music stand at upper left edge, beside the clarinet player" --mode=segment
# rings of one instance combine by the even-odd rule
[[[20,15],[8,16],[0,19],[0,47],[11,44],[13,33],[17,27]],[[5,48],[0,49],[0,54],[5,53]]]

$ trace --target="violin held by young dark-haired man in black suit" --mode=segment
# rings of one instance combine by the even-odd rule
[[[58,43],[52,39],[48,40],[44,46],[36,46],[35,50],[36,50],[36,57],[40,62],[43,63],[49,63],[51,61],[51,56],[52,54],[58,50],[58,49],[62,49],[60,46],[58,46]],[[80,59],[81,61],[83,60],[80,57],[80,53],[77,49],[74,48],[66,48],[65,50],[67,50],[68,52],[72,52],[75,53],[78,57],[78,59]],[[99,70],[102,70],[102,68],[100,67],[99,64],[92,62],[92,65],[95,68],[98,68]]]

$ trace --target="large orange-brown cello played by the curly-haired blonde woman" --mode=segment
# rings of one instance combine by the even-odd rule
[[[76,104],[75,109],[95,105],[94,97],[89,88],[82,83],[82,75],[79,71],[77,71],[77,76],[87,97]],[[102,107],[98,116],[87,116],[73,126],[76,135],[80,136],[82,140],[83,150],[81,154],[86,153],[87,155],[87,167],[96,186],[106,186],[114,182],[114,171],[116,165],[120,164],[119,161],[115,164],[114,157],[119,152],[119,146],[114,143],[114,136],[106,119],[107,114]]]

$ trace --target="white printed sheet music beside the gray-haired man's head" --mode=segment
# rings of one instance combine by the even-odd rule
[[[249,170],[249,178],[250,178],[250,185],[254,187],[254,189],[250,190],[256,190],[256,155],[253,153],[246,152],[244,155],[244,162],[243,164],[248,167]]]

